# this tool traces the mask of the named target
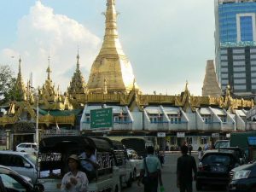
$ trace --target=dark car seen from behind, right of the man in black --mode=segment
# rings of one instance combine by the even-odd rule
[[[233,150],[207,150],[198,166],[196,189],[208,185],[227,186],[230,171],[241,161]]]

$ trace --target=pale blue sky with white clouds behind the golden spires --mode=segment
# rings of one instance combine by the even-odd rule
[[[201,95],[208,59],[214,59],[213,0],[116,0],[119,39],[143,93],[176,95],[186,80]],[[88,81],[104,35],[106,0],[0,1],[0,64],[26,82],[44,84],[48,56],[52,79],[67,90],[79,46]]]

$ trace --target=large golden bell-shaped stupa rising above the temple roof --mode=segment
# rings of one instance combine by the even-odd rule
[[[100,53],[92,64],[87,88],[89,93],[125,92],[132,90],[135,77],[131,62],[119,42],[115,0],[108,0],[104,14],[105,36]]]

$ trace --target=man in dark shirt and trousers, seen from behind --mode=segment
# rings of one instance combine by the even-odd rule
[[[181,147],[182,156],[177,159],[177,188],[180,192],[192,192],[192,170],[196,178],[195,158],[188,155],[188,146]]]

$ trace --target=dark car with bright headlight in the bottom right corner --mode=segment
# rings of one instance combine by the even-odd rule
[[[232,169],[230,177],[230,192],[256,192],[256,162]]]

